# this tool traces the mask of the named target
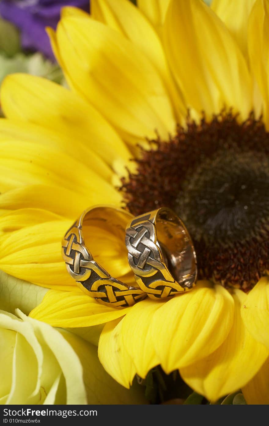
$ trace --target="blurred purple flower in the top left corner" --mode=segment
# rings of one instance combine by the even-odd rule
[[[0,15],[21,30],[24,49],[39,50],[54,58],[45,27],[56,28],[63,6],[77,6],[89,12],[89,0],[2,0]]]

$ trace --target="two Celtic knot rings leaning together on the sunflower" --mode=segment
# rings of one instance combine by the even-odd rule
[[[136,285],[112,277],[94,260],[89,250],[94,229],[97,235],[109,231],[114,239],[125,239]],[[180,218],[166,207],[137,217],[111,206],[85,210],[66,232],[62,256],[81,290],[117,308],[134,305],[146,296],[163,300],[189,291],[197,277],[191,237]],[[134,282],[133,276],[130,281]]]

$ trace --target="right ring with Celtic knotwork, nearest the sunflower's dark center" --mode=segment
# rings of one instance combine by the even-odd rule
[[[169,208],[129,220],[125,243],[137,284],[152,299],[174,296],[194,286],[197,265],[192,239]]]

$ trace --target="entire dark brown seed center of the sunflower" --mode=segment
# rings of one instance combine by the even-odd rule
[[[151,141],[123,179],[131,213],[170,207],[192,236],[199,278],[245,291],[269,270],[269,133],[252,115],[189,121]]]

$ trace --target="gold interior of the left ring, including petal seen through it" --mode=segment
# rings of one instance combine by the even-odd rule
[[[112,207],[95,207],[83,218],[84,245],[113,278],[136,286],[128,263],[125,246],[125,227],[130,215]]]

